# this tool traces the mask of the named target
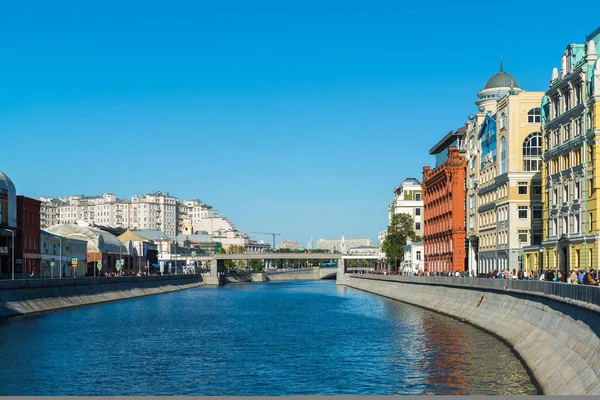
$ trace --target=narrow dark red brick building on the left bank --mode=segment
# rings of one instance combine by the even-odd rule
[[[17,196],[15,274],[40,274],[40,205],[38,200]]]

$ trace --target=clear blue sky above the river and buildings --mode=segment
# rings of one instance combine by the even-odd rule
[[[0,170],[28,196],[164,190],[246,231],[375,240],[393,187],[421,178],[500,55],[546,90],[600,24],[600,3],[581,7],[6,1]]]

